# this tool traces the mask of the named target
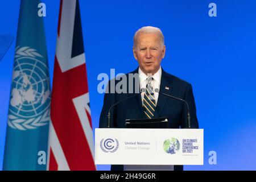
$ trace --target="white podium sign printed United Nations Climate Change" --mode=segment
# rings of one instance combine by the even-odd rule
[[[95,129],[95,164],[203,165],[203,129]]]

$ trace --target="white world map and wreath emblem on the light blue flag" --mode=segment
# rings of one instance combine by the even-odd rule
[[[16,47],[8,125],[18,130],[47,125],[51,91],[44,58],[30,47]]]

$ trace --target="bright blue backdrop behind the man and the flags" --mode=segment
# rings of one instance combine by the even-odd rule
[[[59,0],[45,0],[44,18],[50,77],[53,76]],[[161,28],[167,47],[165,71],[191,82],[197,117],[204,129],[204,166],[186,170],[256,170],[256,1],[80,1],[93,129],[98,127],[103,94],[99,73],[127,73],[137,67],[133,35],[142,26]],[[37,10],[36,10],[37,11]],[[0,34],[16,38],[19,1],[1,1]],[[0,62],[0,169],[15,43]],[[217,164],[208,163],[209,151]],[[109,169],[110,166],[98,166]]]

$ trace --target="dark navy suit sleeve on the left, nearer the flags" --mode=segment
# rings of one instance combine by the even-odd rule
[[[109,85],[110,85],[110,81],[108,82],[108,85],[107,85],[107,89],[109,88],[108,90],[110,91]],[[100,128],[108,127],[108,113],[109,113],[110,107],[114,103],[115,103],[114,93],[109,93],[108,91],[106,91],[105,95],[104,95],[104,103],[103,103],[101,115],[100,115],[100,125],[99,125]],[[112,109],[112,111],[110,113],[111,114],[110,127],[114,126],[113,110],[114,110],[114,108]]]

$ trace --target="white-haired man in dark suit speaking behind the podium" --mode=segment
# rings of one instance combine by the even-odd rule
[[[106,92],[104,105],[100,116],[100,127],[108,125],[108,111],[118,101],[126,101],[115,105],[112,109],[110,127],[125,127],[126,119],[160,118],[168,117],[168,126],[171,129],[179,129],[187,126],[187,106],[184,102],[172,99],[159,93],[166,93],[188,102],[191,114],[191,127],[199,128],[196,117],[196,105],[193,97],[192,86],[186,81],[165,72],[160,66],[166,53],[164,36],[156,27],[142,27],[134,35],[133,53],[139,67],[129,73],[135,75],[127,77],[125,92]],[[108,86],[117,86],[123,80],[116,78],[111,80]],[[111,83],[112,82],[112,83]],[[133,84],[131,84],[131,82]],[[138,83],[139,84],[136,84]],[[131,88],[132,87],[132,88]],[[143,89],[145,92],[136,94],[136,90]],[[133,90],[130,93],[129,90]],[[131,97],[134,96],[134,97]],[[144,166],[145,167],[145,166]],[[167,166],[174,170],[183,170],[183,166]],[[160,166],[159,166],[160,168]],[[113,165],[112,170],[136,169],[134,166]],[[149,169],[149,168],[141,168]]]

